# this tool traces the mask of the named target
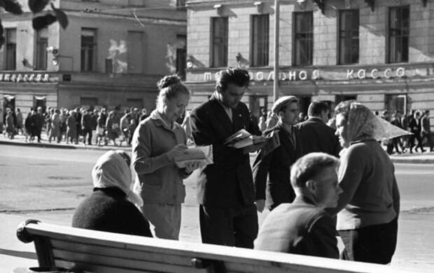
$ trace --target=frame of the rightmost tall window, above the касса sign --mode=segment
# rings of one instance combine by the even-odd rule
[[[394,9],[400,9],[400,17],[401,17],[401,22],[400,24],[402,25],[402,11],[404,9],[407,9],[407,14],[408,14],[408,18],[407,18],[407,22],[408,25],[407,27],[402,27],[400,29],[392,29],[391,28],[391,20],[392,20],[392,10]],[[409,5],[405,5],[405,6],[391,6],[388,8],[388,13],[387,13],[387,39],[386,39],[386,64],[399,64],[399,63],[408,63],[409,61],[409,32],[410,32],[410,6]],[[392,36],[393,31],[398,31],[401,34],[398,34],[396,36]],[[404,34],[402,34],[402,32],[404,32]],[[406,34],[406,35],[405,35]],[[391,46],[392,46],[392,39],[393,38],[400,38],[400,47],[401,50],[404,48],[403,43],[404,43],[404,39],[407,39],[407,47],[404,50],[402,50],[401,52],[401,56],[398,59],[397,55],[397,50],[394,50],[392,52]],[[406,54],[405,54],[406,53]],[[405,54],[405,56],[403,55]]]

